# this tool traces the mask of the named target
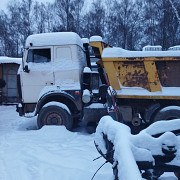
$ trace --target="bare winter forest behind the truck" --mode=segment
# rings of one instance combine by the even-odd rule
[[[180,45],[179,0],[93,0],[88,6],[86,1],[10,0],[0,11],[0,56],[21,57],[27,36],[61,31],[99,35],[128,50]]]

